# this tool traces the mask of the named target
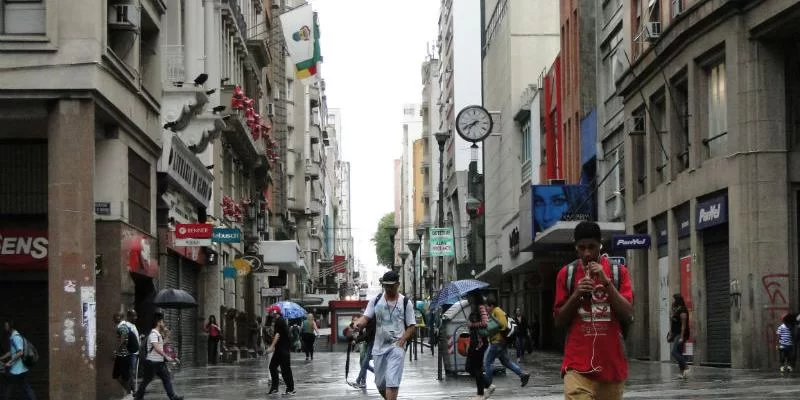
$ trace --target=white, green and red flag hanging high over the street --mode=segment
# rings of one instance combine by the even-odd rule
[[[281,14],[280,19],[286,50],[297,68],[295,76],[305,84],[313,83],[322,62],[317,13],[304,5]]]

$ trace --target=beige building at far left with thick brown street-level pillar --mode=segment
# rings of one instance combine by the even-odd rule
[[[130,3],[128,19],[90,1],[2,4],[0,300],[39,351],[40,398],[104,398],[105,322],[136,304],[131,272],[151,286],[158,272],[166,10]],[[133,239],[143,257],[130,265]]]

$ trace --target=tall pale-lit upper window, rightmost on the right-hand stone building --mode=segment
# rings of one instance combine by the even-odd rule
[[[728,94],[725,88],[725,62],[706,69],[708,80],[708,129],[703,144],[708,158],[725,154],[728,147]]]

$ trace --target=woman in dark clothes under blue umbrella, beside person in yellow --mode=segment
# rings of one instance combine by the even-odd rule
[[[479,331],[489,326],[489,312],[480,292],[472,291],[467,297],[470,306],[469,314],[469,347],[467,349],[466,370],[475,378],[478,395],[473,400],[483,400],[486,383],[483,379],[483,355],[486,352],[487,341]],[[491,395],[493,388],[489,388]]]

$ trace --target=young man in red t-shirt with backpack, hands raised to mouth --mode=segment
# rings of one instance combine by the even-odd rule
[[[566,400],[622,399],[628,361],[622,345],[620,321],[633,315],[633,289],[628,270],[618,267],[618,279],[608,258],[600,256],[600,226],[581,222],[575,227],[578,260],[572,285],[567,286],[569,267],[556,278],[553,308],[555,324],[567,327],[564,362]]]

